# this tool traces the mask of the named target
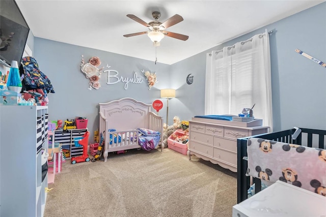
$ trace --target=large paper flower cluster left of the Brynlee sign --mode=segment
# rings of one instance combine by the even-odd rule
[[[101,84],[99,82],[102,74],[102,68],[98,68],[101,65],[101,60],[97,56],[93,56],[89,59],[88,63],[85,63],[84,55],[82,55],[82,64],[80,65],[80,70],[86,75],[86,78],[90,80],[89,88],[90,90],[99,89]]]

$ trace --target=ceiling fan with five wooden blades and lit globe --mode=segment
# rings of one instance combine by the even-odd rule
[[[176,15],[170,17],[169,19],[167,19],[163,23],[157,21],[159,19],[159,17],[161,16],[161,14],[159,12],[157,12],[157,11],[153,12],[152,16],[155,20],[147,23],[133,14],[128,14],[127,17],[146,26],[149,30],[145,31],[145,32],[140,32],[140,33],[127,34],[127,35],[124,35],[124,37],[139,36],[139,35],[147,34],[148,37],[151,39],[151,41],[156,46],[159,45],[159,42],[165,36],[169,36],[169,37],[183,40],[183,41],[186,41],[189,38],[189,36],[178,34],[178,33],[172,33],[172,32],[168,32],[165,30],[166,28],[181,22],[183,20],[183,18],[180,15],[176,14]]]

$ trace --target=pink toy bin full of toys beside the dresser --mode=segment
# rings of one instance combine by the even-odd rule
[[[187,155],[188,133],[182,130],[174,131],[168,138],[168,148]]]

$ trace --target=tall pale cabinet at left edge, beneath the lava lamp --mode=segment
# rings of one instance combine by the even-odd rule
[[[43,216],[47,115],[47,106],[0,106],[0,216]]]

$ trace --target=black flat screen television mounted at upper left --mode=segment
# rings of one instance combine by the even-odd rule
[[[18,67],[29,36],[30,27],[14,0],[0,1],[0,63],[10,67],[16,60]]]

